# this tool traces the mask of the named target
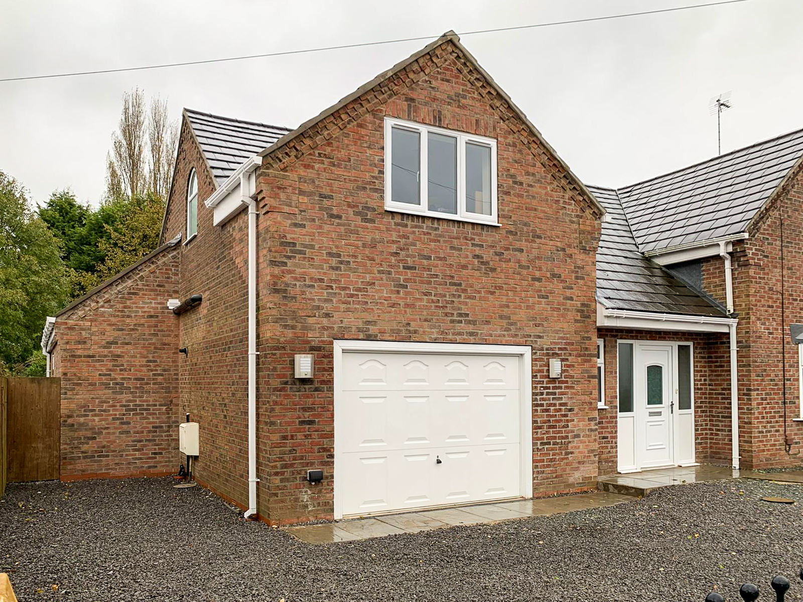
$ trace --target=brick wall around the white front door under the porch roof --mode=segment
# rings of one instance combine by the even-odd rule
[[[617,341],[664,340],[694,346],[695,459],[731,463],[730,347],[726,334],[699,332],[634,331],[599,328],[605,340],[605,405],[599,410],[599,471],[617,472],[618,355]]]

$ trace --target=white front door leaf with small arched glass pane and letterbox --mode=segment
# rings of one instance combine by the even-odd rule
[[[641,468],[670,466],[674,462],[672,417],[672,347],[642,344],[635,370],[636,445]]]

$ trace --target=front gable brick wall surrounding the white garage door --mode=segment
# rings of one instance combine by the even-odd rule
[[[347,105],[353,118],[306,154],[260,170],[259,511],[271,521],[332,517],[333,339],[532,346],[536,495],[595,485],[599,222],[479,79],[445,44]],[[501,227],[386,212],[385,115],[495,137]],[[311,384],[292,377],[298,352],[316,356]],[[547,377],[555,356],[562,380]],[[314,488],[312,467],[327,474]]]

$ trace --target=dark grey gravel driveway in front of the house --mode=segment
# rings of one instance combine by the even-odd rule
[[[628,504],[355,543],[309,545],[169,479],[10,485],[0,571],[19,600],[698,600],[793,580],[803,511],[751,480]],[[56,587],[57,586],[57,587]],[[767,588],[768,589],[768,588]],[[764,595],[766,595],[765,592]],[[769,598],[767,598],[769,599]]]

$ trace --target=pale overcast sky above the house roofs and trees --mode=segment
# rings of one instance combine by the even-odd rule
[[[711,0],[0,0],[0,78],[214,59],[564,21]],[[803,128],[803,2],[464,35],[585,182],[626,185],[716,154],[709,100],[732,91],[723,152]],[[123,93],[295,127],[423,47],[0,82],[0,170],[35,201],[96,205]]]

